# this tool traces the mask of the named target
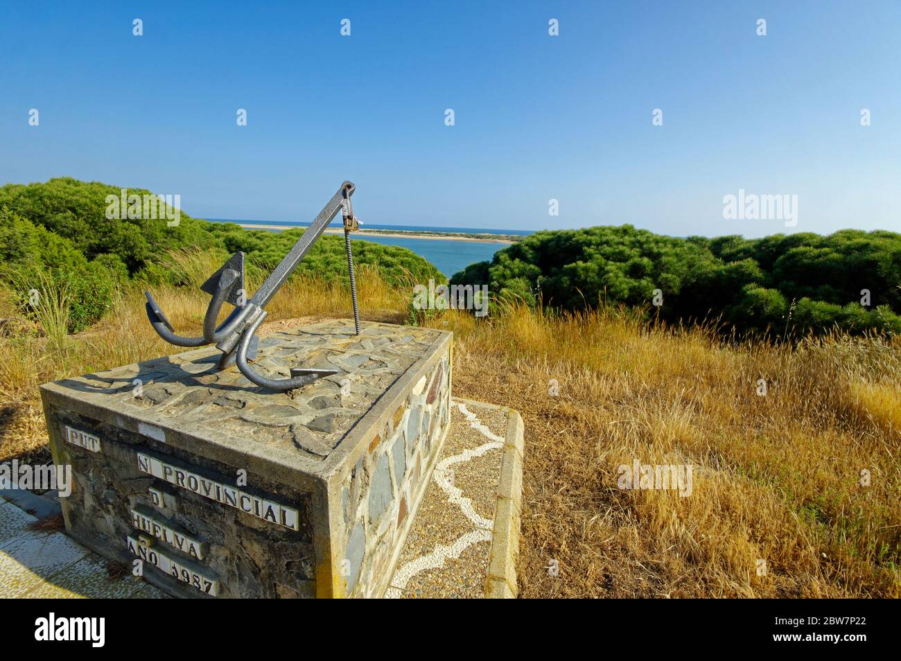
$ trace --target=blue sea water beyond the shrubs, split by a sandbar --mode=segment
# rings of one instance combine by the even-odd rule
[[[276,225],[291,227],[309,227],[309,222],[288,221],[241,221],[223,218],[208,218],[210,222],[237,222],[239,224]],[[341,222],[332,222],[331,227],[341,227]],[[395,231],[455,231],[472,234],[517,234],[526,236],[532,234],[528,230],[491,230],[483,227],[434,227],[426,225],[376,225],[366,223],[367,230],[395,230]],[[280,231],[273,229],[270,231]],[[359,240],[382,243],[387,246],[400,246],[412,250],[417,255],[428,259],[445,276],[451,277],[458,271],[462,271],[470,264],[489,261],[498,250],[505,249],[508,243],[484,243],[482,241],[461,241],[454,239],[407,239],[406,237],[386,237],[378,235],[358,236]]]

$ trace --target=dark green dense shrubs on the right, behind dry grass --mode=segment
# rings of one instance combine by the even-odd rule
[[[738,331],[901,332],[901,235],[889,231],[758,240],[679,239],[631,225],[540,231],[451,282],[530,302],[540,294],[569,310],[647,305],[660,289],[661,318],[718,319]],[[865,289],[869,306],[860,304]]]

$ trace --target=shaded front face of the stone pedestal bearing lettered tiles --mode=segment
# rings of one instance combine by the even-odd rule
[[[133,561],[141,555],[130,550],[125,540],[140,533],[152,541],[150,548],[156,554],[177,558],[179,566],[209,578],[216,588],[207,593],[205,584],[198,588],[184,577],[168,575],[149,566],[144,557],[145,577],[174,596],[315,596],[313,493],[255,474],[247,475],[252,486],[238,487],[232,466],[65,409],[48,407],[47,422],[54,463],[72,466],[72,494],[60,499],[66,528],[87,548],[122,562],[131,572]],[[99,451],[64,440],[67,429],[94,436]],[[186,487],[143,472],[139,456],[181,468]],[[236,485],[250,496],[244,502],[251,512],[254,498],[286,505],[297,512],[296,530],[278,523],[278,517],[268,521],[240,506],[194,493],[187,482],[191,475],[195,476],[191,479],[205,478],[205,484]],[[172,479],[176,479],[174,471]],[[201,490],[198,484],[197,491]]]

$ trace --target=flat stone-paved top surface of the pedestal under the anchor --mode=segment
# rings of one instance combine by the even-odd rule
[[[287,393],[251,384],[237,367],[220,371],[214,347],[62,379],[41,391],[57,405],[226,463],[237,452],[323,474],[359,421],[377,413],[383,398],[390,406],[418,376],[417,363],[450,339],[447,331],[375,321],[364,321],[357,336],[353,321],[326,320],[260,338],[254,367],[265,376],[290,376],[291,367],[339,370]]]

